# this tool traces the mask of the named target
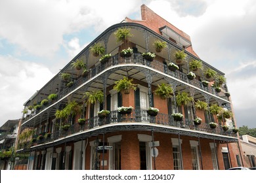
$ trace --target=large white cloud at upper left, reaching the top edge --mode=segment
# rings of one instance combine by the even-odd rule
[[[63,35],[93,25],[96,31],[121,22],[140,1],[0,1],[0,38],[36,56],[53,56]]]

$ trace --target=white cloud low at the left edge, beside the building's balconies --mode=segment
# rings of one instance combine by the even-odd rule
[[[0,120],[22,117],[22,105],[54,75],[47,67],[0,56]]]

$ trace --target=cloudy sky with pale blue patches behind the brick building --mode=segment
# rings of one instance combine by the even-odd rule
[[[125,16],[140,20],[142,4],[190,35],[198,56],[226,73],[238,126],[256,127],[254,0],[1,0],[0,125],[21,118],[33,93],[102,31]]]

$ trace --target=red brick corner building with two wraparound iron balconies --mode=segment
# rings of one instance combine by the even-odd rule
[[[30,153],[28,169],[211,170],[244,163],[232,131],[234,115],[226,115],[232,105],[226,82],[221,83],[224,73],[198,57],[186,33],[145,5],[141,14],[142,20],[125,18],[108,27],[24,103],[28,112],[22,129],[33,133],[20,141],[17,153]],[[129,31],[129,39],[118,41],[119,30]],[[166,47],[156,50],[156,41]],[[93,54],[95,43],[103,46],[100,54],[106,59]],[[127,48],[133,49],[130,56],[122,52]],[[175,52],[182,50],[185,58],[177,60]],[[147,52],[156,54],[153,61],[143,56]],[[77,60],[86,65],[85,72],[75,69]],[[203,67],[191,78],[194,60]],[[209,69],[215,75],[206,78]],[[137,90],[118,92],[115,83],[124,77],[133,79]],[[171,86],[172,95],[158,95],[162,84]],[[121,114],[119,107],[130,106],[131,113]],[[158,108],[158,114],[149,107]],[[103,109],[110,113],[98,114]],[[173,117],[178,113],[183,117]],[[196,118],[200,125],[194,124]],[[211,122],[217,127],[211,128]]]

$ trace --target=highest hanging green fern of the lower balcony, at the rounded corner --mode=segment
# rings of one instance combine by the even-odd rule
[[[117,92],[129,94],[131,89],[132,90],[137,89],[136,84],[133,84],[132,82],[133,82],[133,78],[129,80],[127,77],[123,76],[123,79],[117,80],[115,82],[114,90],[116,90]]]

